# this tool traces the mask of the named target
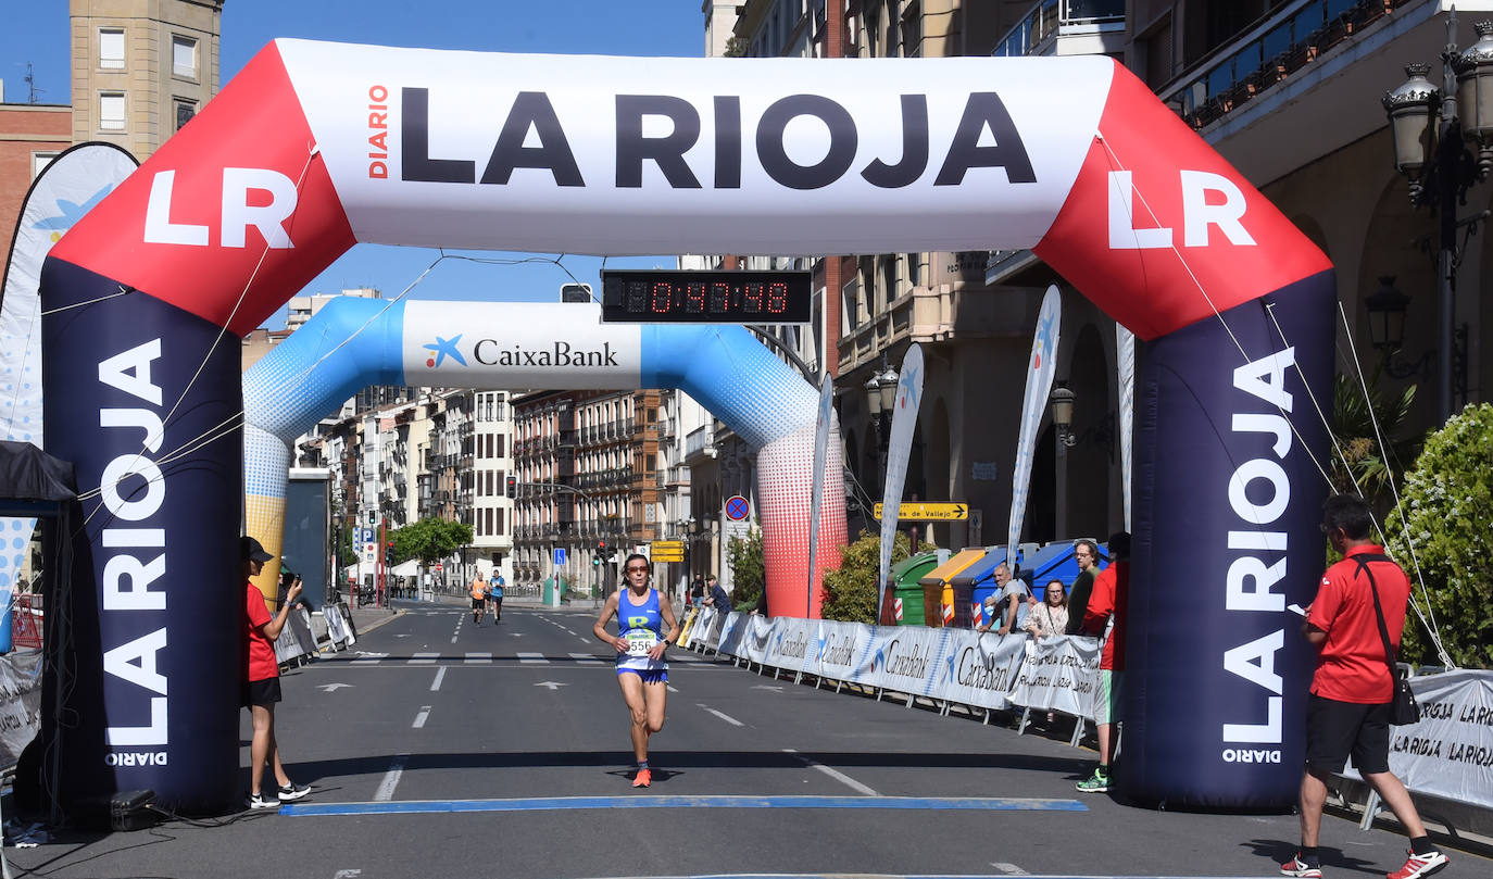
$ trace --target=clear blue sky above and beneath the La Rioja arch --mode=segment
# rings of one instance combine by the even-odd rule
[[[40,90],[37,101],[69,103],[67,30],[66,0],[0,0],[0,79],[4,79],[6,101],[27,101],[22,78],[30,61]],[[705,18],[700,0],[227,0],[222,7],[222,84],[276,37],[487,52],[700,57],[705,54]],[[437,255],[424,248],[358,245],[306,291],[378,287],[385,297],[394,297]],[[600,258],[572,255],[563,263],[576,279],[597,285]],[[672,260],[635,257],[611,260],[608,266],[672,266]],[[409,295],[554,300],[560,285],[569,281],[554,264],[488,266],[446,260]],[[284,312],[267,325],[284,325]]]

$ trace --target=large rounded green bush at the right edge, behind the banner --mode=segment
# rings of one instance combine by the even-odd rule
[[[1409,572],[1414,603],[1421,610],[1429,606],[1447,654],[1466,669],[1493,666],[1493,594],[1483,570],[1493,549],[1490,521],[1493,406],[1481,403],[1426,436],[1426,448],[1405,479],[1399,510],[1384,522],[1386,549]],[[1441,663],[1429,630],[1414,612],[1400,658]]]

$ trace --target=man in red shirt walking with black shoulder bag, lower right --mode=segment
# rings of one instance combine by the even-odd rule
[[[1344,555],[1327,569],[1306,609],[1302,634],[1320,649],[1306,703],[1306,772],[1302,775],[1300,849],[1282,876],[1320,879],[1317,831],[1327,800],[1327,779],[1353,766],[1378,791],[1409,836],[1409,860],[1387,879],[1420,879],[1441,872],[1447,855],[1436,851],[1405,785],[1390,772],[1390,700],[1394,684],[1384,655],[1374,592],[1378,592],[1390,642],[1399,649],[1405,628],[1409,578],[1369,539],[1374,518],[1357,497],[1327,498],[1321,530]]]

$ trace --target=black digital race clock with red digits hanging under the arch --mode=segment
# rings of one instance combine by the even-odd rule
[[[603,324],[808,324],[808,272],[606,269]]]

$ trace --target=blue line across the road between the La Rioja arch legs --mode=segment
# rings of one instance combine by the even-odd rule
[[[409,800],[402,803],[305,803],[281,815],[411,815],[420,812],[554,812],[575,809],[966,809],[1087,812],[1079,800],[1018,797],[526,797],[518,800]]]

